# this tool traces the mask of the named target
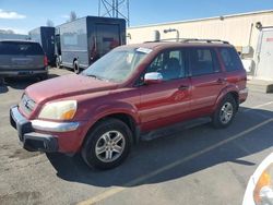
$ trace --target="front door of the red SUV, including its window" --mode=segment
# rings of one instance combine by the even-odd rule
[[[186,118],[190,106],[186,55],[183,50],[164,51],[146,69],[145,73],[162,73],[164,81],[140,87],[142,130],[157,129]]]

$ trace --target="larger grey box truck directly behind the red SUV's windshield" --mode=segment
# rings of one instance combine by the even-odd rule
[[[57,26],[57,64],[75,73],[126,44],[126,20],[85,16]]]

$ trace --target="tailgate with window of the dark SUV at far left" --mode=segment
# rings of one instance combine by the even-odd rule
[[[37,43],[0,43],[0,69],[37,70],[44,68],[44,51]]]

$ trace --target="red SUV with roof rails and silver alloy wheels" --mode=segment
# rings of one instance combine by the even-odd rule
[[[88,166],[109,169],[143,133],[200,117],[228,126],[247,98],[246,81],[226,41],[121,46],[80,75],[27,87],[10,119],[25,149],[81,152]]]

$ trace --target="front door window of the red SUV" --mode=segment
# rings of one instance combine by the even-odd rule
[[[162,73],[164,81],[182,79],[186,76],[186,52],[169,50],[159,53],[146,70]]]

